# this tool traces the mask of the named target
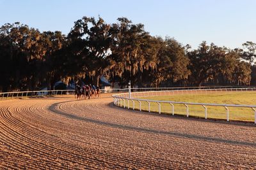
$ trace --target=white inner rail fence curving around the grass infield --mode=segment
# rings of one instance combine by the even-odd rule
[[[214,94],[216,92],[252,92],[256,91],[256,88],[232,88],[232,89],[193,89],[193,90],[163,90],[163,91],[148,91],[148,92],[133,92],[131,98],[128,93],[115,94],[113,95],[114,104],[116,106],[124,106],[124,108],[130,109],[130,103],[132,103],[132,109],[135,110],[135,101],[139,103],[139,110],[141,111],[141,102],[148,104],[148,112],[150,112],[150,103],[158,104],[158,112],[161,114],[161,104],[170,104],[170,111],[172,115],[175,114],[174,104],[183,104],[186,107],[186,117],[189,117],[189,106],[202,106],[204,108],[205,119],[207,119],[207,106],[223,107],[226,110],[227,121],[230,120],[229,108],[251,108],[254,111],[254,123],[256,124],[256,105],[241,105],[241,104],[214,104],[214,103],[188,103],[188,102],[177,102],[177,101],[154,101],[148,99],[139,99],[137,97],[147,96],[169,96],[175,94]]]

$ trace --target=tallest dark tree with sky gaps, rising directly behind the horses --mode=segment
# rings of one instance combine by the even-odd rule
[[[72,31],[68,34],[71,46],[78,45],[75,55],[80,57],[79,74],[88,73],[94,76],[97,85],[100,76],[109,67],[112,40],[110,27],[100,17],[99,20],[83,17],[82,20],[75,22]]]

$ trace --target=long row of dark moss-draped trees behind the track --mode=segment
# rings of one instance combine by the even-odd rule
[[[35,90],[54,82],[83,80],[159,87],[250,85],[255,79],[256,44],[244,50],[207,45],[196,50],[173,38],[150,36],[143,24],[118,18],[83,17],[68,35],[20,24],[0,27],[0,91]]]

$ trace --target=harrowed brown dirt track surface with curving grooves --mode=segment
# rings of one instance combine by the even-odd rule
[[[110,95],[0,101],[0,169],[255,169],[256,126],[118,108]]]

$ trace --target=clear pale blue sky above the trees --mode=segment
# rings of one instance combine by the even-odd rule
[[[0,0],[0,25],[21,22],[67,34],[83,16],[109,24],[127,17],[152,36],[170,36],[193,48],[202,41],[229,48],[256,43],[255,0]]]

